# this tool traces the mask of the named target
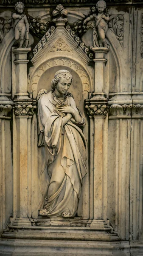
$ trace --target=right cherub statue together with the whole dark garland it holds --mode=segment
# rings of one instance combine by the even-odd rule
[[[108,30],[108,23],[110,18],[108,10],[106,10],[106,3],[100,0],[96,3],[96,8],[93,7],[84,20],[79,21],[73,27],[75,32],[79,35],[87,32],[87,29],[93,29],[93,46],[92,47],[107,47],[105,35]],[[90,47],[91,48],[91,47]]]

